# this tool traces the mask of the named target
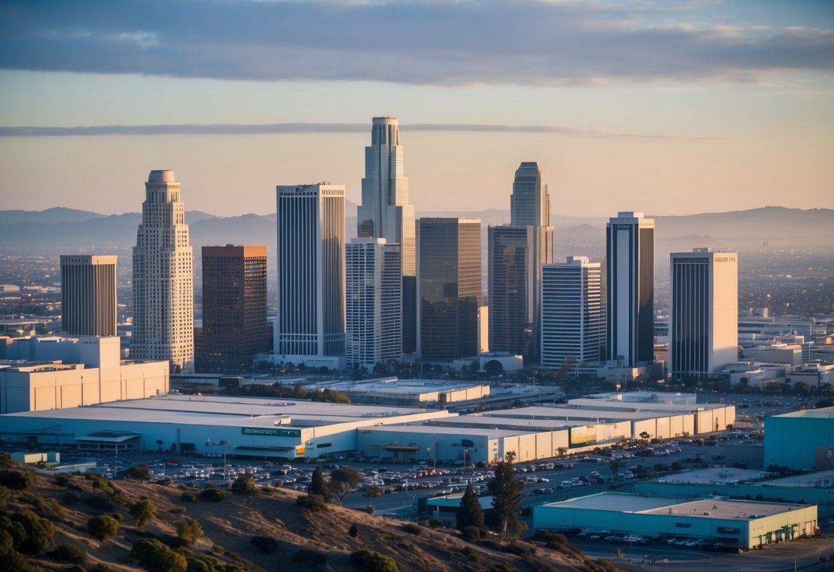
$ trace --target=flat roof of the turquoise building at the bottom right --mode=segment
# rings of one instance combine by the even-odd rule
[[[560,509],[595,509],[611,512],[642,514],[678,514],[712,519],[748,520],[756,516],[771,516],[810,504],[764,503],[753,500],[700,499],[681,503],[679,499],[640,494],[599,493],[568,499],[544,506]]]

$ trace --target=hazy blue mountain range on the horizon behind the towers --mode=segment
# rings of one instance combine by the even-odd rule
[[[418,217],[464,216],[480,218],[484,234],[487,225],[503,224],[510,212],[489,209],[470,212],[421,212]],[[348,238],[355,235],[356,205],[346,209]],[[647,213],[647,216],[652,216]],[[0,211],[0,247],[55,250],[59,252],[108,253],[130,248],[136,241],[141,213],[103,215],[73,208],[43,211]],[[834,250],[834,210],[765,207],[730,213],[701,213],[686,216],[654,216],[658,255],[695,246],[736,249],[768,248]],[[188,211],[191,243],[266,244],[275,247],[275,214],[244,214],[219,217]],[[568,217],[554,214],[557,259],[565,254],[585,253],[600,258],[605,252],[605,222],[602,217]]]

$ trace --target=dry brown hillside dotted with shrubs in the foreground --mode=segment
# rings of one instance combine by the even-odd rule
[[[23,511],[48,519],[54,528],[52,543],[34,552],[29,548],[32,554],[25,557],[31,569],[36,570],[142,570],[142,564],[130,553],[134,543],[148,538],[159,539],[183,554],[188,572],[386,570],[359,564],[355,557],[351,559],[351,554],[361,549],[393,559],[396,568],[387,570],[399,572],[614,569],[607,561],[585,559],[561,542],[534,544],[490,535],[473,544],[455,530],[405,524],[333,504],[325,509],[306,509],[297,502],[306,495],[284,489],[258,489],[254,494],[227,492],[223,500],[217,501],[203,499],[199,491],[183,490],[173,484],[106,481],[80,474],[32,474],[28,489],[14,488],[13,485],[21,484],[15,475],[27,472],[31,474],[15,465],[0,469],[0,482],[11,485],[10,494],[3,494],[0,488],[0,504],[8,496],[0,508],[5,517],[0,517],[0,569],[20,568],[9,564],[14,560],[3,550],[8,527],[14,525],[10,522],[20,519]],[[196,493],[196,502],[183,499],[186,492]],[[150,500],[156,513],[147,524],[136,526],[129,507],[140,499]],[[123,518],[114,538],[98,540],[88,532],[88,520],[101,514]],[[175,528],[175,522],[186,517],[198,521],[203,529],[193,544],[186,544]],[[355,536],[349,534],[352,524]],[[262,537],[260,547],[253,543],[254,537]],[[83,554],[74,559],[77,554],[68,554],[67,549],[56,554],[55,549],[61,544],[74,546]],[[57,562],[62,556],[64,561]],[[178,564],[157,564],[156,568],[146,564],[145,569],[176,570],[184,564],[182,558],[175,558]]]

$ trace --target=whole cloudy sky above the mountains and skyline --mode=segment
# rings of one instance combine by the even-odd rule
[[[399,118],[411,203],[554,213],[834,208],[830,0],[0,3],[0,208],[273,213],[278,184],[359,203]]]

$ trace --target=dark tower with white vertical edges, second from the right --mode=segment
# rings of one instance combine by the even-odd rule
[[[607,359],[636,367],[655,359],[655,221],[619,213],[605,233]]]

